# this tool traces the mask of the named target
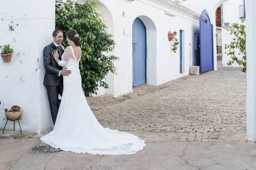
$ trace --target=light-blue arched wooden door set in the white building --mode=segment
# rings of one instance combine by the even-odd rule
[[[133,22],[133,87],[146,84],[146,27],[136,18]]]

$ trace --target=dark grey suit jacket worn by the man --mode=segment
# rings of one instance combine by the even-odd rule
[[[62,67],[58,65],[53,57],[52,53],[54,50],[57,50],[54,43],[47,45],[43,49],[43,64],[46,70],[43,84],[46,86],[59,86],[61,83],[63,83],[62,75],[58,76],[59,71],[62,70]],[[64,51],[62,50],[62,54],[63,52]],[[59,56],[59,59],[61,60],[61,56]]]

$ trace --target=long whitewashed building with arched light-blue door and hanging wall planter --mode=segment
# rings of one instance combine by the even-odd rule
[[[99,88],[97,95],[114,94],[116,97],[131,92],[133,86],[145,83],[159,85],[188,75],[190,66],[199,65],[199,14],[179,3],[165,0],[97,2],[107,9],[102,8],[100,12],[117,44],[111,54],[120,57],[114,62],[117,75],[109,74],[106,78],[110,88]],[[140,49],[138,52],[137,41],[142,37],[133,32],[143,32],[141,25],[145,25],[146,36],[143,38],[146,41],[144,51]],[[172,41],[167,36],[169,31],[176,31],[179,41],[181,31],[182,54],[180,46],[177,53],[171,51]],[[135,51],[145,55],[139,63],[133,60],[133,56],[137,55]],[[140,77],[137,81],[136,73]]]

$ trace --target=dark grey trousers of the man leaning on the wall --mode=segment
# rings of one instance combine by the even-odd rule
[[[55,121],[58,114],[58,106],[59,106],[59,94],[62,96],[63,92],[63,83],[59,86],[45,86],[47,90],[48,100],[50,104],[51,110],[51,118],[53,119],[53,124],[55,125]]]

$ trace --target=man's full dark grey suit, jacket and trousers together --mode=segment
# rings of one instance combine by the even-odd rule
[[[50,104],[51,117],[53,119],[53,124],[55,125],[55,121],[58,114],[58,106],[59,106],[59,94],[62,96],[63,92],[63,77],[59,76],[59,72],[62,70],[62,67],[58,65],[55,61],[52,53],[57,50],[57,47],[54,43],[47,45],[43,49],[43,63],[45,66],[45,78],[43,80],[43,84],[46,87],[48,100]],[[59,60],[61,60],[61,54],[63,54],[63,50],[59,50]]]

